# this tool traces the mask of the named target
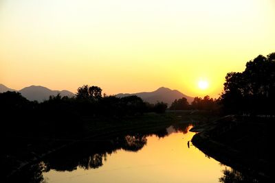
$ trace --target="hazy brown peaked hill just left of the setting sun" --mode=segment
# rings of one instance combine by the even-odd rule
[[[181,99],[185,97],[188,103],[191,103],[194,98],[184,95],[183,93],[179,92],[178,90],[171,90],[170,88],[161,87],[153,92],[142,92],[142,93],[119,93],[115,95],[116,97],[126,97],[129,95],[137,95],[141,97],[144,101],[149,103],[156,103],[157,101],[163,101],[164,103],[168,103],[168,106],[171,105],[175,99]]]

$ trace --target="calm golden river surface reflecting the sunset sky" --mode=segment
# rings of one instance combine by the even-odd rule
[[[126,136],[128,148],[93,154],[76,167],[43,173],[45,182],[219,182],[229,169],[188,141],[195,134],[168,127],[159,137]],[[134,147],[131,143],[135,143]],[[58,166],[56,166],[58,167]]]

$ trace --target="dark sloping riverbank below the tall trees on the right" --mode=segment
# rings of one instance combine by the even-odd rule
[[[227,116],[195,127],[192,143],[203,153],[248,175],[252,180],[271,180],[270,119]]]

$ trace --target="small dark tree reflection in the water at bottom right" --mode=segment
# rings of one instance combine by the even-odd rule
[[[223,177],[219,178],[219,182],[223,183],[252,183],[259,182],[258,180],[251,178],[248,175],[244,175],[243,173],[236,171],[234,169],[223,170]]]

